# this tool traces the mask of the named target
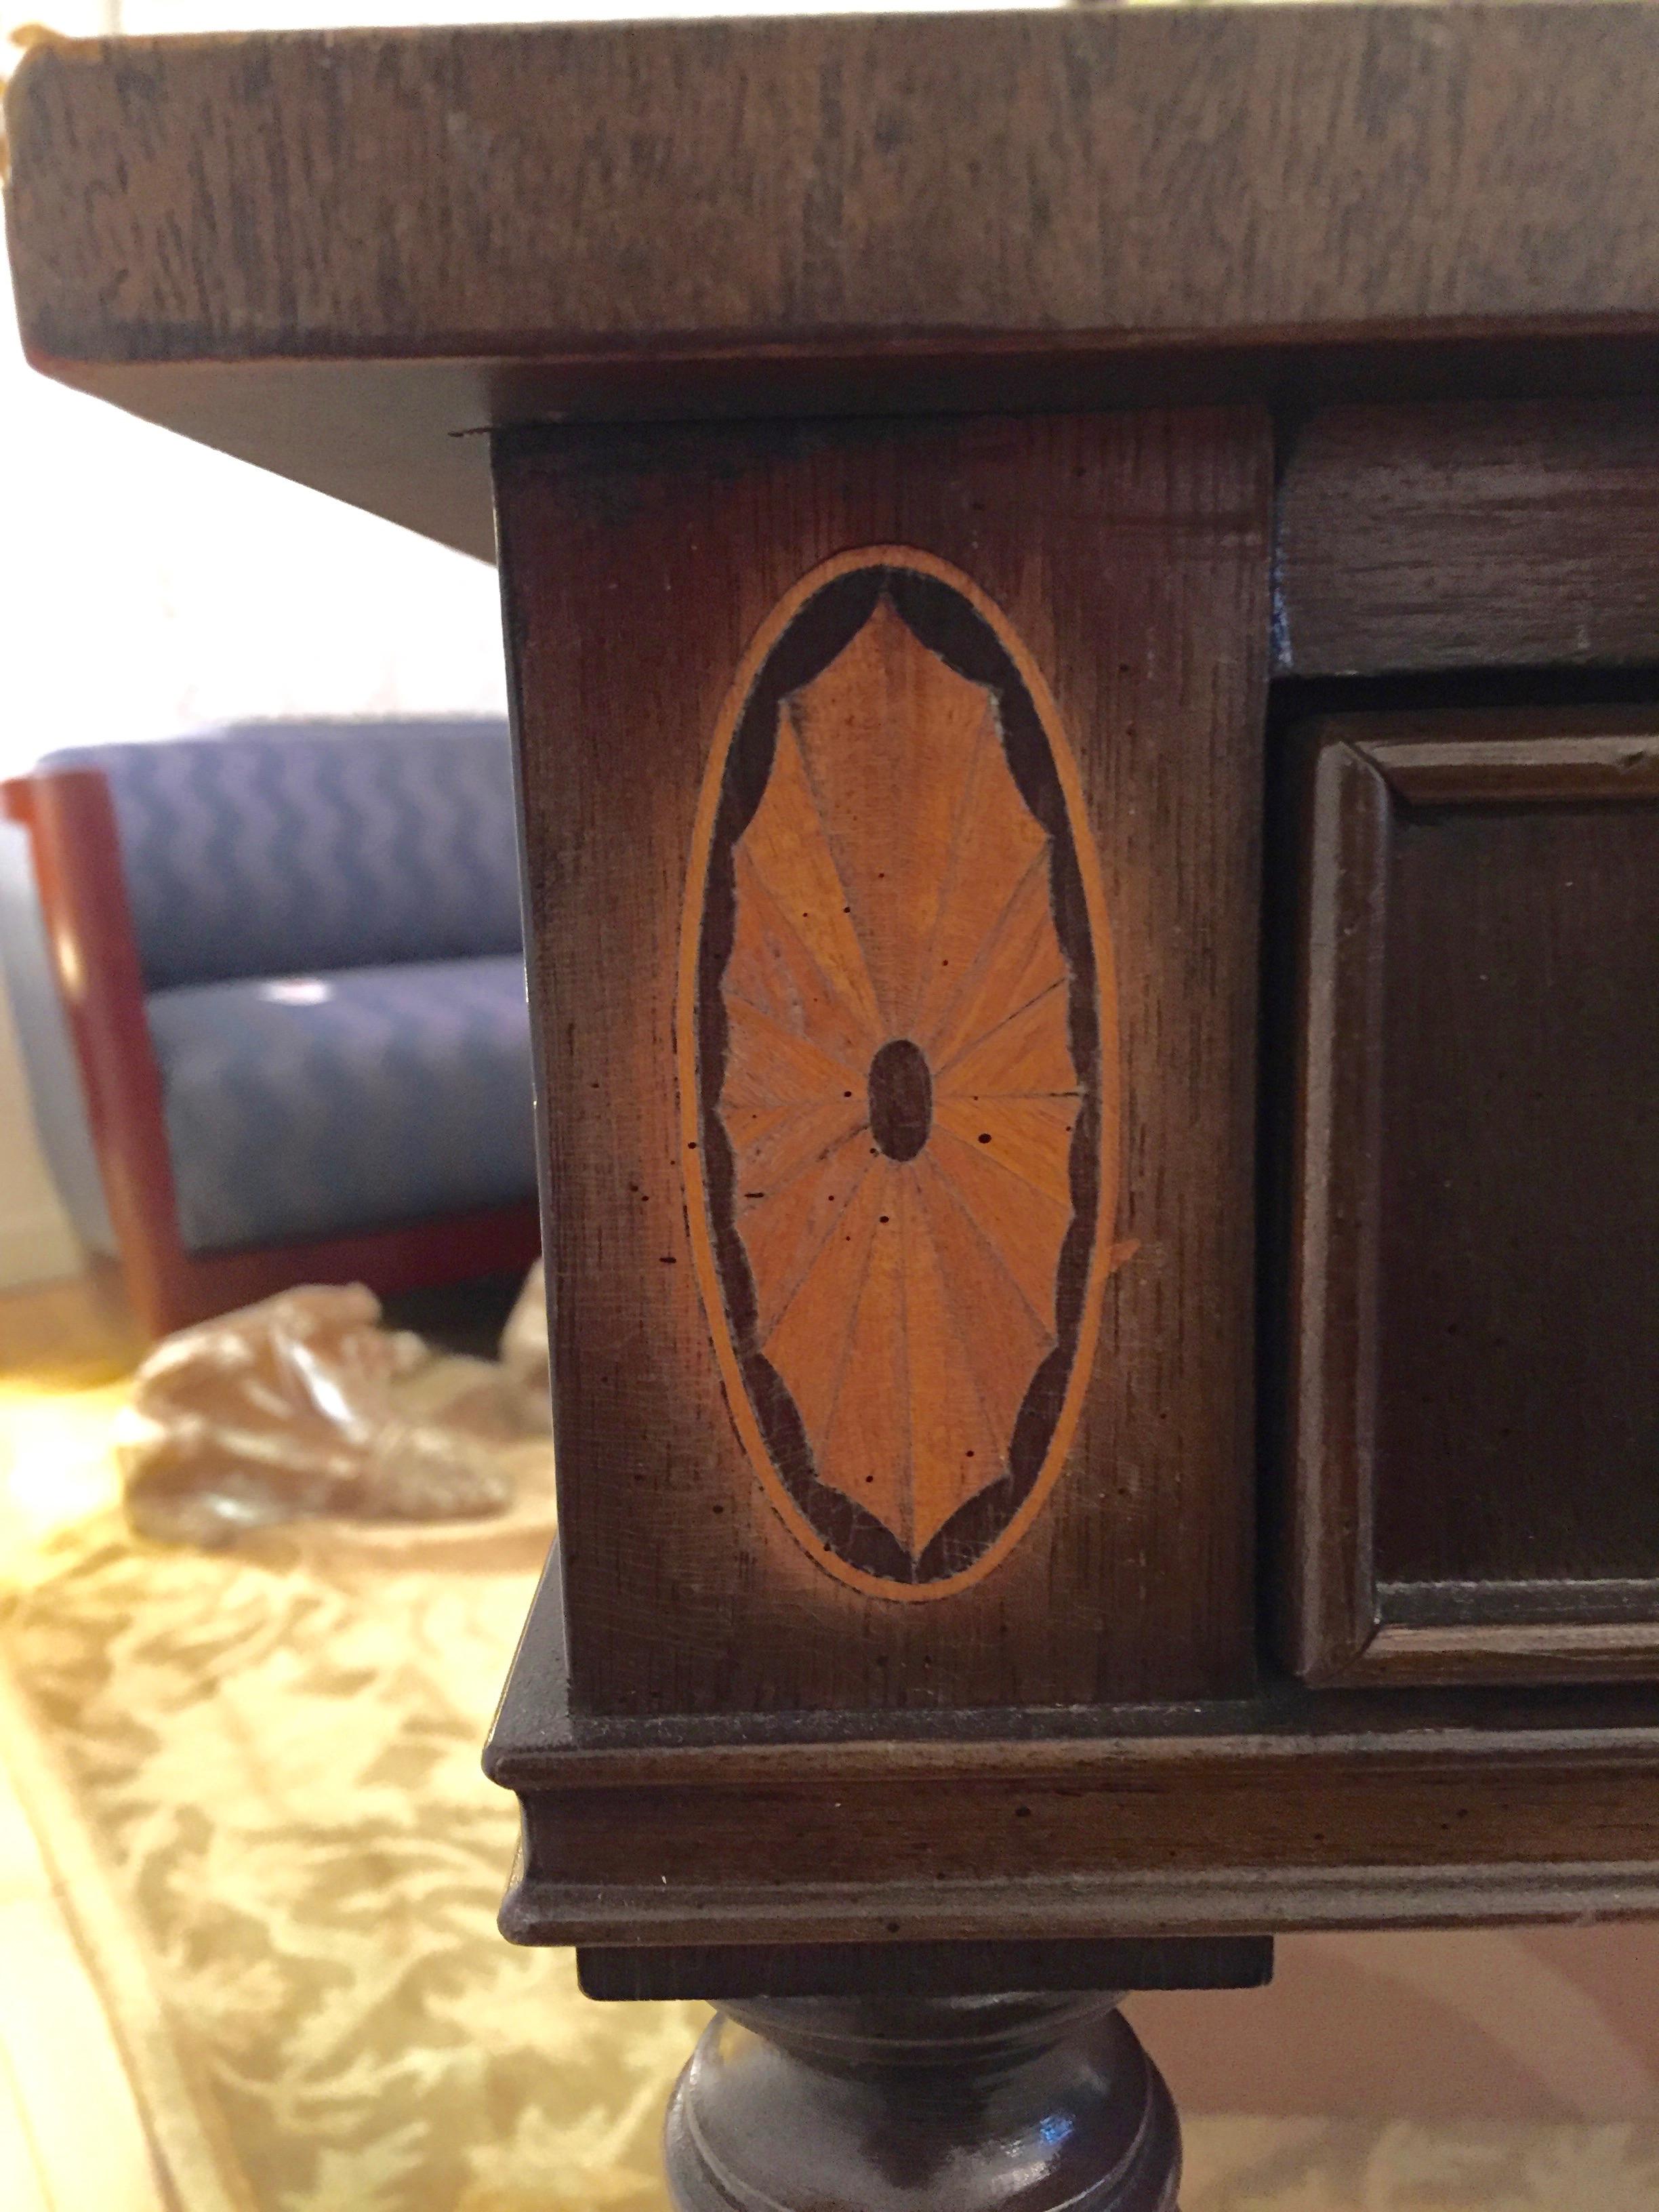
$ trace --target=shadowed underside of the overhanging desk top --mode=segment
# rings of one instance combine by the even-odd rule
[[[1327,11],[1338,4],[1321,0]],[[1405,11],[1400,0],[1391,4]],[[975,347],[971,336],[951,334],[838,352],[684,354],[653,345],[593,361],[80,363],[38,354],[35,367],[146,422],[493,562],[491,427],[1214,405],[1274,407],[1294,420],[1312,405],[1431,403],[1471,389],[1493,398],[1588,392],[1601,405],[1610,394],[1659,387],[1659,332],[1590,325],[1571,336],[1513,325],[1509,336],[1484,341],[1175,349],[1042,336]]]

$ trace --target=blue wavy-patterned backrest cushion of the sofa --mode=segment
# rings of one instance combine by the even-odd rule
[[[51,752],[108,779],[150,991],[520,951],[504,721],[270,721]]]

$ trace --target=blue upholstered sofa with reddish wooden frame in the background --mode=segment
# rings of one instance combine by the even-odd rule
[[[7,807],[33,838],[106,1219],[66,1155],[60,1183],[150,1327],[290,1281],[400,1290],[533,1256],[504,723],[80,748]],[[13,975],[13,1002],[49,1082],[40,993]]]

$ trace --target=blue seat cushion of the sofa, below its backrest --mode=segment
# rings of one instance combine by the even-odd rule
[[[148,1018],[186,1252],[535,1192],[518,956],[181,984]]]

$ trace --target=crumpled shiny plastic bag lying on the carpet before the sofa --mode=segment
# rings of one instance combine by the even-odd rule
[[[314,1513],[504,1513],[513,1482],[491,1444],[398,1402],[431,1352],[378,1321],[361,1283],[305,1285],[159,1343],[115,1420],[133,1526],[228,1544]]]

